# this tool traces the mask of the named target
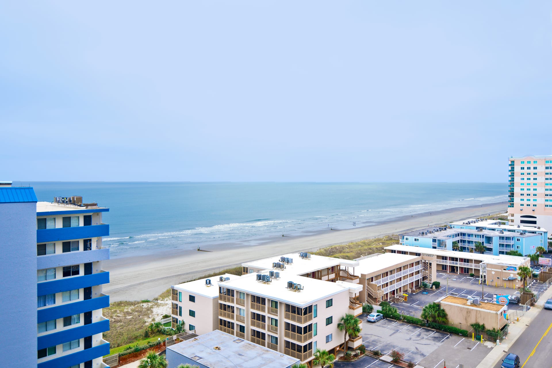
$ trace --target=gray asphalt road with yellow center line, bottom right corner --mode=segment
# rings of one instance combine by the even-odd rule
[[[520,367],[552,367],[550,351],[552,349],[552,311],[543,308],[530,326],[521,334],[511,346],[508,353],[519,355]],[[495,368],[500,368],[502,359]]]

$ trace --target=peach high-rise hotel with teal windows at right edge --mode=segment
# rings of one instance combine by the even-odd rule
[[[552,229],[552,155],[508,161],[509,223]]]

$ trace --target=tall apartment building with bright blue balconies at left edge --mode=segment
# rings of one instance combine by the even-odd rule
[[[21,208],[31,204],[32,211],[17,210],[14,204]],[[83,204],[78,196],[38,202],[33,188],[0,187],[0,214],[3,218],[11,216],[19,224],[10,227],[4,221],[0,225],[2,236],[6,231],[12,232],[11,240],[4,242],[8,253],[4,250],[2,254],[9,257],[9,262],[3,264],[10,264],[9,280],[14,280],[21,288],[19,296],[24,296],[24,300],[10,296],[7,300],[13,303],[9,308],[14,311],[0,317],[1,326],[8,327],[3,329],[3,335],[25,347],[22,354],[14,355],[18,366],[107,367],[102,361],[102,356],[109,354],[109,343],[103,340],[109,320],[102,316],[102,308],[109,306],[109,296],[102,293],[102,285],[109,282],[109,273],[102,270],[102,260],[109,259],[109,249],[102,248],[102,237],[109,235],[109,225],[102,223],[105,211],[109,209]],[[26,223],[32,225],[20,226]],[[19,241],[20,237],[25,241]],[[17,316],[16,326],[9,321],[13,316]],[[37,337],[31,348],[27,340],[21,343],[21,336],[14,338],[35,329]],[[30,354],[35,344],[36,356]],[[21,364],[22,357],[29,362]]]

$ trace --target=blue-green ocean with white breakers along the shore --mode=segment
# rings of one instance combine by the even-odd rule
[[[82,195],[109,207],[111,257],[201,244],[255,244],[507,200],[503,183],[14,182],[39,201]]]

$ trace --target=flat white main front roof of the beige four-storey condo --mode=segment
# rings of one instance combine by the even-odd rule
[[[272,266],[272,263],[270,264]],[[261,271],[261,274],[268,275],[269,270]],[[248,274],[240,278],[226,281],[224,286],[230,289],[247,292],[249,294],[264,296],[272,300],[278,300],[284,303],[293,304],[298,307],[305,307],[313,301],[330,297],[344,290],[349,291],[349,285],[343,285],[337,282],[322,281],[317,279],[298,276],[290,270],[279,270],[280,278],[272,279],[272,282],[265,284],[262,281],[257,281],[256,274]],[[293,291],[286,289],[288,281],[293,281],[295,284],[301,284],[304,290]],[[346,283],[348,284],[348,283]],[[223,286],[223,285],[221,285]],[[218,290],[217,290],[218,292]]]

